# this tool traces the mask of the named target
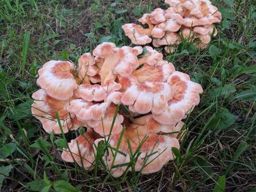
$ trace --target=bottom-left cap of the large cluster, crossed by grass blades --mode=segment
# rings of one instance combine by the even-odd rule
[[[79,135],[79,137],[68,143],[70,151],[69,149],[63,150],[61,158],[66,162],[75,161],[79,166],[84,167],[85,170],[92,170],[95,159],[93,151],[94,140],[92,131]]]

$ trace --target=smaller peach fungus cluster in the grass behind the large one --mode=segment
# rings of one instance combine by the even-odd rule
[[[211,37],[218,31],[213,23],[221,21],[221,13],[209,0],[165,0],[170,7],[160,8],[143,14],[140,25],[128,23],[122,26],[124,33],[135,45],[151,43],[153,46],[165,46],[166,52],[173,52],[182,38],[193,42],[198,48],[205,48]]]

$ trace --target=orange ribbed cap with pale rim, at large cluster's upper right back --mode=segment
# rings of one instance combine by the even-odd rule
[[[143,65],[133,71],[132,75],[137,78],[139,83],[145,82],[166,82],[170,75],[175,71],[172,63],[168,61],[158,61],[155,66]]]

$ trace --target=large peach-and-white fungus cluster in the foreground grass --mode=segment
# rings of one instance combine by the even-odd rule
[[[109,141],[102,161],[114,177],[131,170],[138,149],[133,170],[143,174],[172,160],[183,135],[181,120],[203,92],[148,46],[102,43],[93,54],[83,54],[78,67],[49,61],[38,74],[41,89],[32,96],[31,110],[43,129],[60,134],[87,128],[63,149],[62,159],[92,170],[99,143]]]

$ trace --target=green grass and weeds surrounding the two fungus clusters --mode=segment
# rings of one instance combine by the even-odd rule
[[[255,190],[256,2],[213,3],[223,20],[209,47],[198,51],[183,43],[164,55],[204,89],[201,103],[185,120],[188,132],[181,150],[174,150],[177,159],[155,174],[128,172],[114,179],[100,169],[83,171],[61,161],[61,139],[69,141],[79,132],[49,135],[31,116],[37,70],[51,59],[77,63],[79,55],[105,41],[130,45],[123,23],[166,5],[160,0],[0,1],[2,191]]]

